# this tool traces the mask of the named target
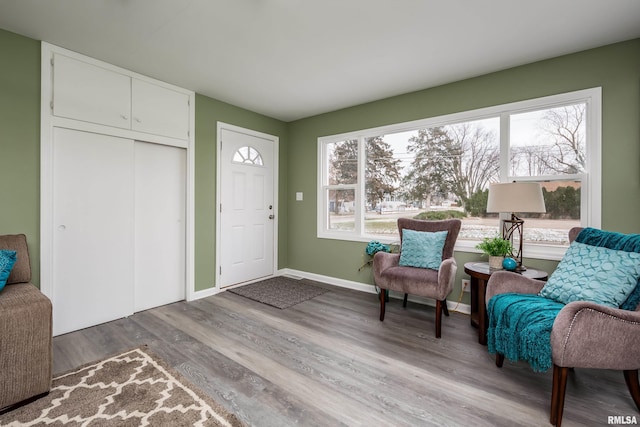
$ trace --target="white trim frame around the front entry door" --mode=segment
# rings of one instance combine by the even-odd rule
[[[275,223],[273,225],[273,271],[278,270],[278,219],[280,218],[278,212],[278,176],[279,176],[279,144],[280,139],[277,136],[269,135],[266,133],[254,131],[251,129],[242,128],[239,126],[231,125],[228,123],[218,122],[216,133],[216,274],[214,289],[220,290],[220,253],[222,250],[222,221],[220,219],[220,204],[222,203],[222,159],[220,158],[220,150],[222,149],[222,130],[243,133],[256,138],[263,138],[273,143],[273,214],[275,215]]]

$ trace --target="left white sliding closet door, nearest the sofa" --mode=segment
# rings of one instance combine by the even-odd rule
[[[54,335],[133,313],[134,141],[53,136]]]

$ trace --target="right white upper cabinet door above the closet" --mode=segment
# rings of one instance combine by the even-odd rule
[[[142,80],[132,80],[131,129],[171,138],[189,138],[189,96]]]

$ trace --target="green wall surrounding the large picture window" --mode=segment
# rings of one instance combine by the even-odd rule
[[[316,237],[317,138],[476,108],[602,87],[602,228],[640,232],[640,39],[383,99],[289,123],[288,181],[303,191],[289,209],[288,267],[363,283],[366,243]],[[457,300],[462,265],[479,254],[455,254]],[[552,271],[556,262],[526,260]],[[463,302],[467,302],[465,296]]]

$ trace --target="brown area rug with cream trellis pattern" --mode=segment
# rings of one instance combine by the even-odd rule
[[[9,426],[243,426],[141,347],[53,379],[51,392],[0,415]]]

